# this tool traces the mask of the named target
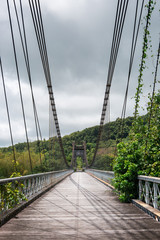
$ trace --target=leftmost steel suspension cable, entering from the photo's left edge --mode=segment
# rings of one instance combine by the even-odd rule
[[[7,99],[7,92],[6,92],[6,86],[5,86],[5,80],[4,80],[3,66],[2,66],[1,57],[0,57],[0,68],[1,68],[1,76],[2,76],[2,84],[3,84],[4,97],[5,97],[5,104],[6,104],[6,109],[7,109],[7,117],[8,117],[10,138],[11,138],[11,144],[12,144],[14,168],[15,168],[15,171],[17,171],[17,161],[16,161],[16,154],[15,154],[15,149],[14,149],[12,126],[11,126],[11,119],[10,119],[10,113],[9,113],[9,106],[8,106],[8,99]]]

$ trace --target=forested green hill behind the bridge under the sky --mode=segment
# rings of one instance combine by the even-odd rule
[[[145,116],[143,117],[145,118]],[[106,146],[107,143],[110,147],[109,155],[113,157],[113,147],[116,145],[116,139],[120,137],[119,127],[121,119],[107,123],[104,125],[102,139],[100,142],[100,149],[98,151],[98,157],[102,155],[103,159],[106,158]],[[123,138],[127,138],[130,127],[133,122],[133,117],[128,117],[125,119]],[[92,160],[94,149],[97,141],[98,126],[86,128],[82,131],[77,131],[66,135],[62,138],[63,146],[67,161],[70,163],[72,158],[72,142],[75,141],[76,144],[82,144],[83,141],[86,141],[87,146],[87,158],[90,162]],[[41,150],[42,166],[40,165],[39,160],[39,149]],[[15,144],[16,150],[16,160],[18,162],[18,170],[22,175],[29,174],[30,166],[28,160],[28,151],[26,143]],[[50,171],[58,170],[65,167],[63,158],[60,153],[59,144],[56,138],[50,140],[43,140],[43,142],[31,142],[30,151],[32,157],[32,165],[34,172],[41,171]],[[99,159],[101,162],[102,159]],[[98,163],[99,164],[99,163]],[[0,148],[0,177],[9,177],[14,171],[13,167],[13,154],[12,147]],[[101,165],[101,164],[100,164]],[[103,165],[103,164],[102,164]],[[98,165],[99,168],[102,168]],[[104,166],[103,168],[109,170],[109,165]]]

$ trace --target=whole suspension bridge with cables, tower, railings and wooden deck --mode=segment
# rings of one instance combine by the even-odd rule
[[[160,178],[138,175],[137,193],[139,194],[137,194],[137,196],[139,195],[139,198],[132,199],[130,203],[122,203],[118,199],[119,193],[115,191],[113,186],[115,173],[113,171],[104,171],[94,168],[96,161],[98,161],[98,151],[103,141],[104,125],[106,119],[109,118],[110,90],[129,0],[118,0],[115,9],[115,22],[107,83],[105,86],[100,124],[96,132],[96,144],[91,160],[87,159],[87,143],[85,139],[82,140],[81,144],[73,139],[72,146],[67,146],[69,150],[71,150],[69,155],[70,159],[68,159],[68,156],[66,157],[67,150],[61,136],[53,92],[54,87],[52,86],[52,76],[43,24],[43,9],[41,9],[40,0],[28,0],[27,3],[49,95],[49,156],[47,156],[46,153],[46,141],[43,141],[38,105],[34,95],[33,77],[28,51],[28,33],[26,30],[26,19],[23,6],[24,2],[22,0],[6,0],[14,65],[18,83],[17,86],[26,137],[24,144],[27,151],[29,170],[28,174],[24,174],[23,176],[18,175],[18,154],[14,142],[14,131],[11,109],[9,107],[9,97],[7,94],[4,64],[3,59],[0,57],[1,85],[7,112],[11,141],[10,152],[12,154],[14,171],[14,174],[10,178],[0,179],[0,239],[159,239]],[[153,10],[153,1],[149,0],[147,4],[148,18],[146,18],[144,27],[144,43],[140,73],[142,73],[144,69],[144,58],[147,50],[146,39],[149,32],[148,28],[150,25],[151,11]],[[129,69],[121,114],[121,124],[119,126],[121,140],[124,132],[131,71],[140,31],[140,23],[144,12],[144,5],[144,0],[135,1]],[[15,21],[13,21],[13,18]],[[16,36],[15,26],[17,31]],[[20,46],[18,46],[18,48],[16,44],[17,36],[20,40]],[[151,125],[151,117],[153,115],[152,105],[157,82],[160,43],[157,47],[158,51],[151,95],[151,111],[149,114],[148,129]],[[37,165],[34,163],[27,126],[26,106],[20,73],[21,64],[18,61],[19,48],[21,48],[21,54],[24,58],[28,85],[31,93],[34,129],[36,131],[35,144],[38,153]],[[141,89],[141,86],[139,86],[140,84],[138,88]],[[138,94],[140,94],[140,89],[137,90],[137,99],[139,99]],[[137,117],[137,109],[138,100],[135,106],[134,118]],[[53,131],[55,135],[53,135]],[[146,148],[147,144],[146,141]],[[78,157],[82,159],[82,168],[80,171],[77,167]],[[38,173],[35,173],[36,170]]]

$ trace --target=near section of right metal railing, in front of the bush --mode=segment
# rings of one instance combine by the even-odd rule
[[[139,200],[160,210],[160,178],[138,176]]]

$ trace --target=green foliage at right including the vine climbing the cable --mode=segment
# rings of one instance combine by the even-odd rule
[[[143,87],[143,71],[146,68],[145,59],[150,42],[149,25],[154,6],[155,2],[153,1],[149,1],[146,5],[142,58],[135,94],[135,119],[129,134],[129,141],[118,144],[118,155],[114,162],[114,185],[123,202],[137,198],[138,174],[160,177],[160,94],[153,95],[152,99],[149,95],[145,119],[138,115]]]

